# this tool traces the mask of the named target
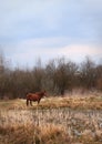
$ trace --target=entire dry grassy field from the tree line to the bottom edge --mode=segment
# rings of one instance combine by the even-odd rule
[[[102,93],[2,100],[0,144],[102,144]]]

